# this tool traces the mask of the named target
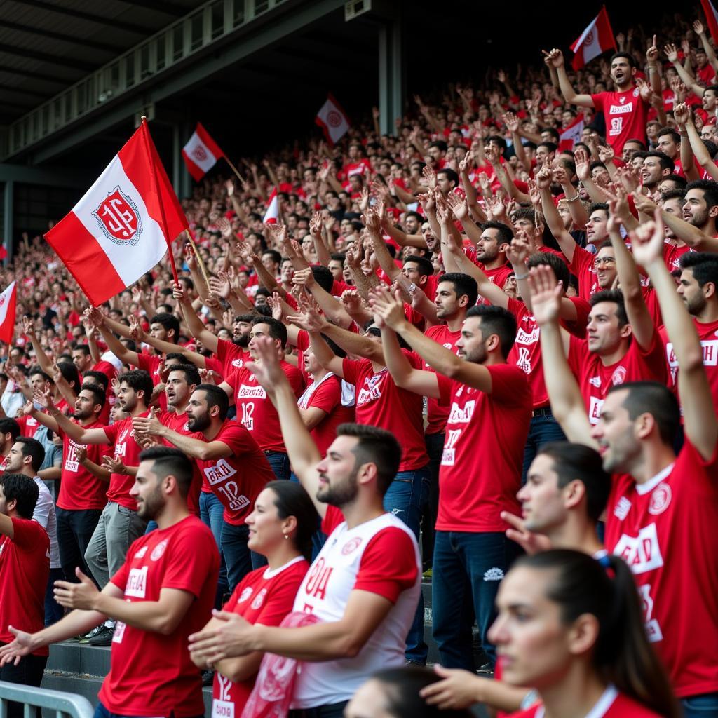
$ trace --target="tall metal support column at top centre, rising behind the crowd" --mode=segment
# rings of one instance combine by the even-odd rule
[[[395,134],[394,122],[404,111],[406,76],[401,14],[379,27],[379,128],[382,134]]]

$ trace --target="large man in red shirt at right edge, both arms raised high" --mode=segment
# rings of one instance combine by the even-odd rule
[[[663,261],[663,223],[631,233],[633,254],[658,294],[679,364],[685,444],[673,442],[680,413],[660,383],[613,386],[591,426],[563,352],[550,279],[532,277],[541,324],[546,384],[554,414],[570,440],[597,447],[614,474],[605,543],[631,567],[643,600],[645,630],[680,699],[718,696],[718,419],[701,344]],[[696,640],[696,636],[700,639]],[[686,701],[686,708],[688,707]]]

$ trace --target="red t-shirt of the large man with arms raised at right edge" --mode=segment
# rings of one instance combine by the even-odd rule
[[[615,476],[606,548],[628,563],[645,628],[676,695],[718,691],[718,454],[689,439],[676,462],[637,484]]]

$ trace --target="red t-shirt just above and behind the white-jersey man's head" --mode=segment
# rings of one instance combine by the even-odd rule
[[[402,351],[415,369],[421,368],[418,355]],[[429,456],[421,416],[424,398],[396,386],[386,367],[375,372],[368,359],[345,358],[342,371],[345,380],[355,387],[357,423],[392,432],[404,449],[399,471],[415,471],[426,466]]]

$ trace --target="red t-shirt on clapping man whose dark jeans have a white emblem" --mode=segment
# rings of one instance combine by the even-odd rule
[[[485,367],[491,393],[437,374],[449,404],[439,470],[437,531],[505,531],[501,511],[517,513],[523,449],[531,422],[526,374],[510,364]]]

